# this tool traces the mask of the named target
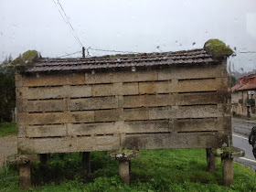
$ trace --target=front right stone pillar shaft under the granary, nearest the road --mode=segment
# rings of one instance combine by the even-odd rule
[[[224,186],[233,184],[233,158],[221,158],[222,176]]]

